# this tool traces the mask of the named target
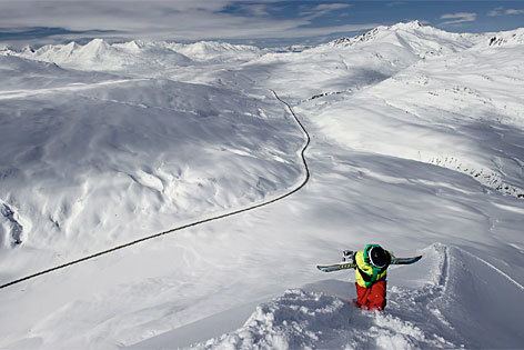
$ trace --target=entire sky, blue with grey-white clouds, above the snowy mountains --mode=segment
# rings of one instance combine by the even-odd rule
[[[508,30],[524,27],[524,1],[0,1],[0,41],[313,43],[415,19],[447,31]]]

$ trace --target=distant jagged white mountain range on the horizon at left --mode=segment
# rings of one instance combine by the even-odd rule
[[[83,46],[72,41],[67,44],[47,44],[36,50],[30,47],[21,51],[3,48],[0,52],[79,70],[152,74],[202,61],[245,61],[260,57],[263,51],[251,46],[226,42],[173,43],[132,40],[109,43],[103,39],[93,39]]]

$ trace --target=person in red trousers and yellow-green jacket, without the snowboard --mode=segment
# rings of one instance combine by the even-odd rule
[[[356,300],[366,310],[384,310],[386,304],[386,273],[392,254],[379,244],[366,244],[354,256]]]

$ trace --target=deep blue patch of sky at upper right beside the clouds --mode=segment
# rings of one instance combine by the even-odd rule
[[[324,11],[315,10],[324,4]],[[500,31],[524,27],[524,1],[275,1],[238,2],[224,9],[228,13],[250,14],[252,7],[264,7],[272,18],[298,18],[304,13],[319,13],[310,27],[342,23],[395,23],[417,19],[449,31]],[[332,11],[326,11],[329,7]],[[513,9],[516,11],[505,10]],[[260,10],[259,10],[260,11]],[[471,13],[464,21],[451,22],[446,14]]]

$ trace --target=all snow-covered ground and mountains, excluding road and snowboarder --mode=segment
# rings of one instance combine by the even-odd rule
[[[518,348],[523,29],[0,50],[0,348]],[[383,313],[342,249],[396,256]]]

